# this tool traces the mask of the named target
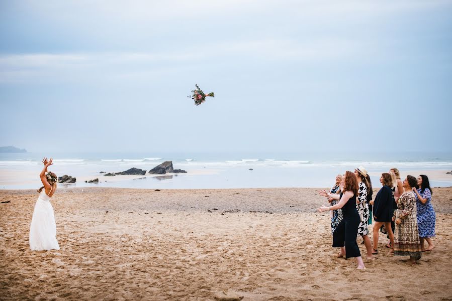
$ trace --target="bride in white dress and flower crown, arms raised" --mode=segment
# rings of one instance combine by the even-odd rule
[[[56,240],[55,215],[53,214],[52,204],[50,204],[50,198],[56,191],[58,179],[54,173],[47,172],[47,168],[52,165],[52,161],[52,158],[50,160],[47,160],[47,158],[42,160],[44,169],[39,177],[44,186],[38,190],[39,197],[31,220],[30,249],[32,251],[60,249]]]

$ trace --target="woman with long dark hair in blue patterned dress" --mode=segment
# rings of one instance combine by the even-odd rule
[[[436,215],[431,205],[431,195],[433,194],[428,178],[420,175],[417,178],[417,186],[413,187],[416,195],[417,205],[417,226],[419,229],[419,237],[422,251],[431,251],[435,245],[431,241],[431,237],[435,236]],[[424,240],[428,243],[428,248],[424,248]]]

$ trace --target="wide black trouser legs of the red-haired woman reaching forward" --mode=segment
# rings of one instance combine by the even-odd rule
[[[361,256],[356,243],[359,222],[359,215],[357,215],[357,218],[344,218],[333,233],[333,247],[340,248],[345,246],[345,258]]]

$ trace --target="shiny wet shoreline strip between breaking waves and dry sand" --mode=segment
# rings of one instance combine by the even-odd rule
[[[345,170],[345,169],[344,169]],[[240,169],[231,171],[233,173],[222,174],[222,171],[216,169],[202,169],[189,171],[187,174],[165,174],[165,175],[117,175],[113,177],[103,176],[104,174],[78,173],[70,174],[75,176],[75,184],[59,183],[59,187],[110,187],[110,188],[136,188],[136,189],[246,189],[246,188],[316,188],[322,185],[325,180],[320,178],[308,185],[303,186],[303,180],[308,176],[303,171],[285,170],[278,171],[280,174],[268,170],[261,171],[256,169]],[[409,170],[400,171],[402,179],[410,174],[417,178],[424,174],[429,177],[432,187],[452,187],[452,175],[446,174],[449,170]],[[382,172],[369,172],[372,177],[372,184],[379,188],[381,184],[378,179]],[[62,173],[61,175],[63,175]],[[57,174],[60,176],[59,174]],[[331,183],[334,182],[335,173],[331,172]],[[274,177],[274,178],[273,178]],[[323,177],[317,175],[317,177]],[[84,183],[84,181],[98,178],[99,183]],[[273,179],[274,182],[273,182]],[[322,178],[323,179],[323,178]],[[229,181],[230,180],[230,181]],[[226,182],[229,181],[229,182]],[[328,182],[329,183],[329,182]],[[275,186],[272,186],[275,184]],[[242,186],[243,185],[243,186]],[[38,189],[42,184],[38,174],[35,171],[15,171],[0,170],[0,190],[15,189]],[[325,185],[327,186],[327,185]]]

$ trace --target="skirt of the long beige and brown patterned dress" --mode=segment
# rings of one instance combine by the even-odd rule
[[[396,219],[399,218],[402,210],[396,212]],[[419,241],[419,232],[417,230],[417,221],[415,210],[402,220],[400,225],[395,225],[394,235],[394,255],[420,257],[421,243]]]

